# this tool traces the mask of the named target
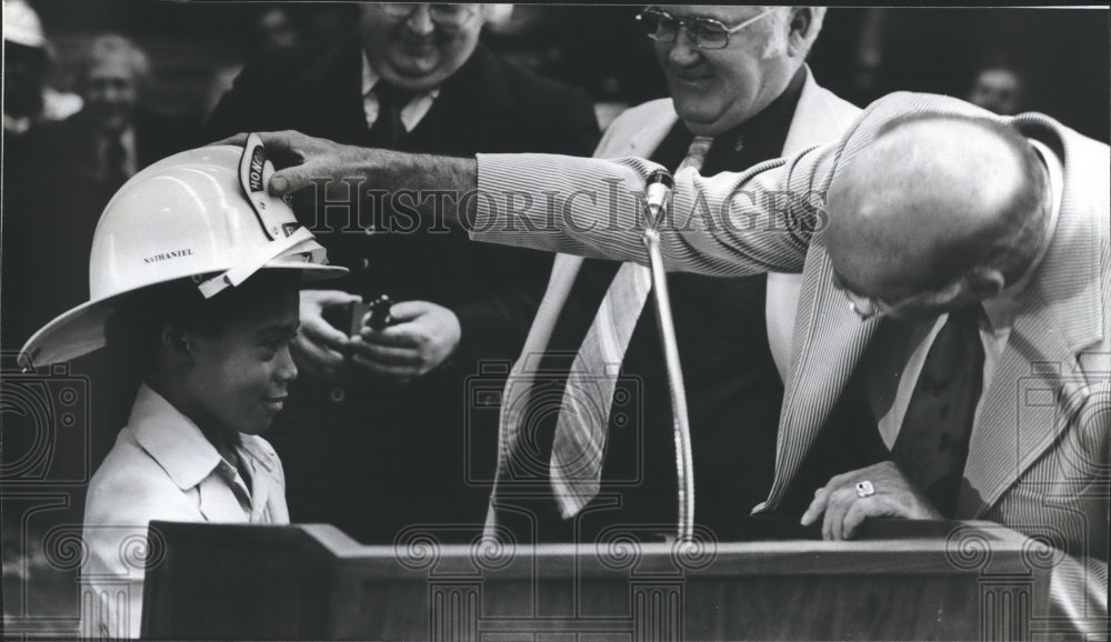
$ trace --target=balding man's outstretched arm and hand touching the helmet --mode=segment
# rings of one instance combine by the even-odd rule
[[[298,132],[259,134],[276,162],[276,195],[321,181],[387,193],[431,227],[467,229],[479,241],[620,261],[647,262],[643,191],[660,165],[643,159],[479,154],[477,159],[341,146]],[[232,141],[234,142],[234,141]],[[675,177],[659,225],[668,270],[719,277],[802,269],[821,228],[834,148],[763,163],[743,173]],[[409,202],[404,202],[409,199]]]

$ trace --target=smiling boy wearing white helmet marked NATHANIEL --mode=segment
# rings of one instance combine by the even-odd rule
[[[46,365],[107,343],[138,384],[89,486],[83,636],[139,635],[143,570],[159,555],[150,521],[289,522],[281,462],[259,434],[297,377],[302,279],[346,270],[266,193],[272,171],[252,137],[133,177],[97,227],[91,301],[24,347]]]

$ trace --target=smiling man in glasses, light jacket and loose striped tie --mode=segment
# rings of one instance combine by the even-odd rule
[[[674,170],[695,150],[701,172],[712,175],[835,140],[860,110],[822,89],[804,62],[824,14],[820,7],[648,8],[638,24],[654,40],[671,98],[618,117],[594,156],[644,157]],[[552,452],[560,450],[559,433],[573,430],[568,400],[561,410],[549,389],[582,368],[565,355],[590,335],[603,295],[622,288],[614,284],[620,267],[557,257],[546,304],[503,398],[509,460],[494,508],[498,522],[521,541],[590,540],[614,524],[659,526],[675,519],[670,395],[651,301],[615,321],[631,330],[613,393],[625,401],[592,399],[599,412],[585,413],[608,424],[592,427],[609,440],[597,495],[578,499],[582,505],[568,519],[557,501],[573,491],[549,479],[549,461],[556,467],[562,454]],[[675,273],[668,281],[691,422],[695,522],[719,540],[733,539],[742,534],[739,518],[771,484],[800,280]],[[558,292],[568,289],[561,299]],[[544,394],[531,397],[540,389]],[[527,420],[532,417],[547,420]]]

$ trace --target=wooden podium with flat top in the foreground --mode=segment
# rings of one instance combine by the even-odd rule
[[[1033,540],[882,522],[853,542],[363,546],[329,525],[153,522],[143,638],[1010,640],[1047,602]]]

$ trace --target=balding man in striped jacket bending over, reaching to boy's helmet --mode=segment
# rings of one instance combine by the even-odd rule
[[[487,198],[461,218],[478,240],[645,261],[640,210],[581,195],[614,182],[640,192],[658,169],[640,159],[476,162],[268,140],[301,161],[276,174],[279,192],[328,174],[477,185]],[[803,278],[775,478],[758,510],[780,506],[827,422],[857,403],[889,457],[814,490],[803,522],[821,520],[830,539],[873,516],[1008,525],[1068,553],[1054,559],[1062,619],[1049,625],[1105,634],[1109,160],[1107,144],[1041,114],[895,93],[837,143],[742,173],[679,172],[660,234],[669,269]],[[546,207],[507,209],[510,191]],[[539,198],[551,191],[573,195],[554,217]]]

